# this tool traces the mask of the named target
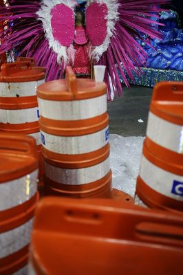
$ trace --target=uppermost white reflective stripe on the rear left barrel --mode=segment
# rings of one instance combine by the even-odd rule
[[[45,83],[45,79],[39,81],[21,83],[0,83],[0,97],[16,98],[22,96],[36,96],[36,89]]]

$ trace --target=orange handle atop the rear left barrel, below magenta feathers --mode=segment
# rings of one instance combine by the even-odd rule
[[[1,66],[1,76],[11,76],[12,74],[16,74],[18,72],[27,71],[28,69],[31,69],[30,61],[6,63]]]

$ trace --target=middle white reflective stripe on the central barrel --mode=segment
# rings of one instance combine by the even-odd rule
[[[109,126],[89,135],[63,137],[41,131],[43,146],[59,154],[84,154],[96,151],[109,142]]]

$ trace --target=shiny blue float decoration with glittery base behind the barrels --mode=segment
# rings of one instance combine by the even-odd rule
[[[177,12],[161,12],[160,23],[164,23],[159,27],[163,38],[151,41],[155,50],[139,41],[149,58],[147,67],[142,68],[143,74],[134,73],[134,81],[129,80],[130,83],[153,87],[159,81],[183,81],[183,30]],[[143,38],[149,40],[147,36]]]

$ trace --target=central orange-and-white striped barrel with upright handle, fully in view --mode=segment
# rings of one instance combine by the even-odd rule
[[[37,88],[47,194],[110,197],[107,85],[77,79]]]

